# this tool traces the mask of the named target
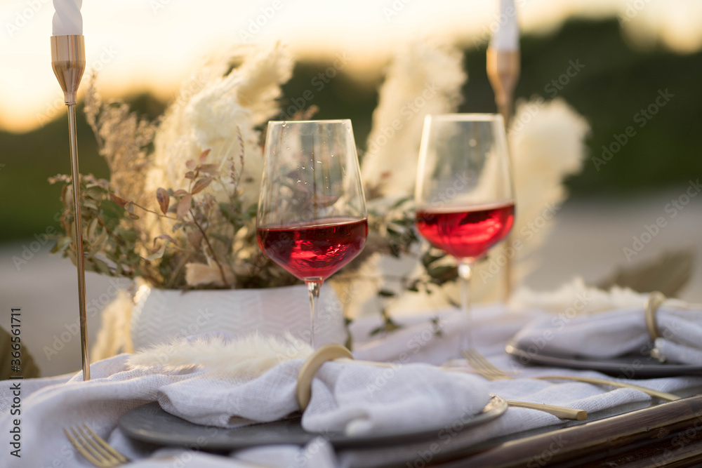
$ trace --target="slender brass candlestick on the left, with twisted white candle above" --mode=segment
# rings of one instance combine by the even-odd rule
[[[86,317],[86,273],[83,256],[83,223],[81,220],[81,186],[78,170],[78,142],[76,136],[76,105],[78,87],[86,69],[84,36],[51,36],[51,66],[63,90],[68,106],[68,136],[71,147],[71,180],[73,184],[74,246],[78,270],[78,305],[81,321],[81,352],[83,355],[83,380],[90,380],[88,357],[88,321]]]

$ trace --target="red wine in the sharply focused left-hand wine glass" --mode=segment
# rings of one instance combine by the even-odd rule
[[[324,280],[363,250],[368,222],[336,218],[263,227],[256,234],[265,255],[298,279]]]

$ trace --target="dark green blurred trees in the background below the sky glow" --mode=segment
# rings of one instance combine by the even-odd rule
[[[495,112],[485,74],[484,46],[465,49],[468,83],[461,112]],[[663,48],[637,51],[625,41],[614,19],[571,20],[551,34],[522,37],[517,98],[550,98],[550,83],[566,72],[569,61],[584,67],[558,95],[585,116],[592,128],[584,169],[568,181],[574,199],[631,198],[696,179],[702,173],[702,53],[678,55]],[[284,86],[284,96],[302,95],[312,77],[329,65],[298,62],[293,79]],[[358,81],[340,72],[310,102],[319,107],[315,118],[352,119],[357,144],[364,149],[380,83],[381,78]],[[653,103],[659,90],[666,89],[674,97],[647,122],[645,131],[639,131],[635,114]],[[152,118],[167,105],[151,95],[126,100]],[[282,107],[285,105],[284,100]],[[634,126],[637,135],[598,172],[590,158],[601,156],[602,145],[611,145],[614,135],[624,133],[628,126]],[[81,173],[107,177],[107,166],[97,154],[82,111],[78,127]],[[4,200],[0,241],[45,232],[55,224],[53,217],[60,210],[59,188],[49,185],[47,178],[70,171],[65,112],[61,110],[53,121],[28,133],[0,132],[0,152],[0,197]]]

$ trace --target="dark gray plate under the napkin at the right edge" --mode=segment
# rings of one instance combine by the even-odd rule
[[[691,364],[661,363],[650,356],[621,356],[607,360],[594,360],[575,355],[549,354],[543,349],[524,349],[516,342],[509,342],[505,351],[524,366],[548,366],[568,369],[597,370],[598,372],[625,379],[654,379],[658,377],[680,377],[702,375],[702,366]]]

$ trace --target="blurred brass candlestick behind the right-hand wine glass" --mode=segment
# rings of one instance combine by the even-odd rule
[[[501,50],[493,47],[487,49],[487,76],[495,92],[495,104],[498,112],[505,119],[505,128],[509,128],[512,119],[512,108],[515,100],[515,86],[519,79],[519,51]],[[510,162],[512,152],[510,152]],[[512,164],[512,167],[514,165]],[[507,238],[508,246],[512,243],[512,236]],[[505,302],[512,295],[512,258],[508,256],[504,269],[504,297]]]

